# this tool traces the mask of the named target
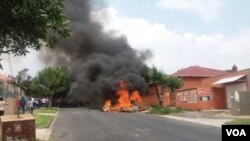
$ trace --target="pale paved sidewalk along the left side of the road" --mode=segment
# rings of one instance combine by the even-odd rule
[[[36,129],[36,139],[39,139],[42,141],[48,141],[50,134],[51,134],[52,127],[54,126],[56,118],[58,116],[58,112],[56,114],[50,114],[50,113],[41,113],[41,114],[43,114],[43,115],[55,115],[49,128]]]

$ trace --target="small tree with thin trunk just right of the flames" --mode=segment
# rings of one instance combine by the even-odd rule
[[[180,78],[168,76],[156,67],[149,68],[145,66],[142,69],[141,75],[146,78],[146,82],[154,86],[160,106],[162,106],[163,100],[163,87],[169,87],[171,92],[173,92],[182,86],[182,80]]]

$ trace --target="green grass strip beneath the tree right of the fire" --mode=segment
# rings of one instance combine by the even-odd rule
[[[154,106],[149,111],[151,114],[157,114],[157,115],[168,115],[168,114],[176,114],[182,112],[181,108],[168,108],[168,107],[160,107],[160,106]]]

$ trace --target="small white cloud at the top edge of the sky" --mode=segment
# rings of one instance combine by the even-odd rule
[[[159,0],[159,7],[189,11],[206,21],[213,21],[219,17],[223,8],[223,0]]]

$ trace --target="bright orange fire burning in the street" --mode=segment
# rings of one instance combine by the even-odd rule
[[[118,90],[116,92],[117,96],[117,103],[112,105],[111,100],[106,100],[103,105],[104,112],[112,112],[112,111],[137,111],[138,104],[142,102],[142,98],[138,90],[135,90],[129,93],[127,89],[126,83],[124,81],[119,81],[118,83]]]

